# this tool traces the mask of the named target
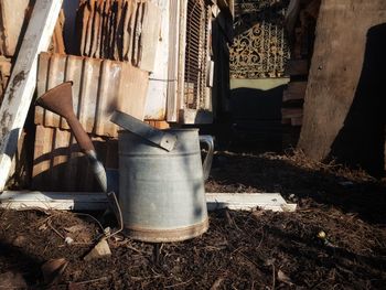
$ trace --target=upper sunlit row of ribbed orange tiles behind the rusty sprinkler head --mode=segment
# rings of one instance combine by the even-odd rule
[[[74,83],[74,110],[89,133],[117,137],[119,128],[109,121],[115,109],[144,117],[148,72],[122,62],[42,53],[37,96],[65,80]],[[41,107],[36,107],[35,123],[69,129],[65,120]]]

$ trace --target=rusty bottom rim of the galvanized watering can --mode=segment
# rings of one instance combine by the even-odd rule
[[[147,243],[171,243],[197,237],[204,234],[208,227],[208,218],[205,218],[200,224],[178,229],[149,229],[125,226],[124,234],[132,239]]]

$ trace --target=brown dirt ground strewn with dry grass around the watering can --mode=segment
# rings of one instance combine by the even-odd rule
[[[10,273],[29,289],[385,289],[384,181],[299,152],[222,151],[206,191],[280,192],[298,210],[214,212],[206,234],[163,244],[159,256],[116,236],[112,255],[92,261],[83,258],[101,229],[90,216],[0,211],[0,289]],[[49,286],[41,266],[56,258],[68,264]]]

